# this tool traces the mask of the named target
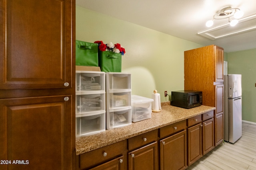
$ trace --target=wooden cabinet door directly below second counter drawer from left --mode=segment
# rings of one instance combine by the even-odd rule
[[[128,170],[158,170],[157,142],[129,152]]]

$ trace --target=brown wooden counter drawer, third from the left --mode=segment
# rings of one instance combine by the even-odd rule
[[[186,120],[160,128],[160,138],[176,133],[182,129],[186,129]]]

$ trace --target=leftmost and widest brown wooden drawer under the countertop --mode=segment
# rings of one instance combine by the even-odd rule
[[[126,140],[79,155],[80,169],[88,169],[105,163],[117,156],[126,155]],[[104,154],[105,153],[105,154]]]

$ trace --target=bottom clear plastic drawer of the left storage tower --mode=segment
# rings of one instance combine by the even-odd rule
[[[105,116],[105,111],[96,115],[76,116],[76,137],[93,135],[105,131]]]

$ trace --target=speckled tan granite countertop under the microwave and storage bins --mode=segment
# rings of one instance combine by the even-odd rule
[[[161,103],[161,107],[162,111],[152,112],[151,119],[132,123],[126,127],[106,130],[90,136],[77,137],[76,155],[215,110],[215,107],[210,106],[198,106],[191,109],[183,109],[170,106],[170,102]]]

